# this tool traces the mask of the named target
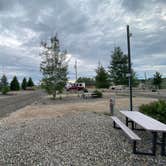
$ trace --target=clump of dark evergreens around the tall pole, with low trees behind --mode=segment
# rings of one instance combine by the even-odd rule
[[[96,88],[109,88],[111,85],[128,85],[128,57],[123,53],[120,47],[115,47],[112,54],[110,64],[107,69],[99,63],[96,76],[93,80]],[[136,73],[132,69],[132,86],[138,85]],[[87,82],[88,78],[79,78],[78,82]],[[88,82],[89,83],[89,82]],[[91,80],[92,83],[92,80]]]

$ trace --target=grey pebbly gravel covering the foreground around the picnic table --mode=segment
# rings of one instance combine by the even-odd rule
[[[132,154],[130,141],[112,127],[109,116],[81,112],[1,123],[0,165],[164,166],[166,157]]]

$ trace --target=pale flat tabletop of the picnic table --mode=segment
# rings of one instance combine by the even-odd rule
[[[166,132],[166,125],[138,111],[120,111],[126,117],[150,131]]]

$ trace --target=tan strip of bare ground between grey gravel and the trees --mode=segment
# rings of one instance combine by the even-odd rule
[[[33,105],[26,106],[16,112],[10,114],[5,118],[5,121],[10,123],[17,121],[24,121],[29,119],[38,118],[53,118],[56,116],[63,116],[70,113],[79,113],[82,111],[109,113],[109,95],[105,93],[104,98],[101,99],[80,99],[77,95],[63,96],[62,100],[56,100],[54,103],[35,103]],[[125,96],[115,95],[115,110],[128,109],[129,98]],[[67,98],[72,100],[66,102]],[[50,100],[46,98],[46,100]],[[134,109],[138,109],[141,104],[150,103],[155,101],[154,98],[147,97],[133,97]]]

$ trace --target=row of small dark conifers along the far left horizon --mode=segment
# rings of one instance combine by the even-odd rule
[[[21,84],[19,83],[16,76],[13,77],[12,81],[9,83],[6,75],[3,75],[0,79],[0,91],[3,94],[8,93],[9,91],[18,91],[20,89],[26,90],[27,87],[33,87],[34,82],[31,77],[27,80],[23,78]]]

